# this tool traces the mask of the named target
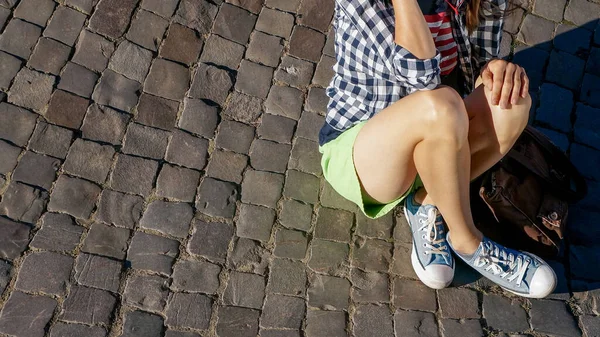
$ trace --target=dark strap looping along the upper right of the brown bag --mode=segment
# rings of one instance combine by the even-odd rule
[[[524,133],[530,136],[533,141],[539,145],[539,147],[545,152],[547,158],[551,158],[554,162],[559,162],[561,164],[561,168],[565,170],[565,174],[569,179],[568,188],[563,188],[559,184],[556,184],[555,180],[552,180],[548,175],[544,172],[541,172],[538,168],[532,166],[530,164],[530,160],[521,154],[519,151],[509,151],[507,156],[516,160],[519,164],[523,165],[525,168],[533,172],[539,178],[548,183],[548,186],[560,192],[568,201],[576,202],[587,194],[587,183],[579,170],[571,163],[569,158],[562,152],[556,145],[554,145],[548,137],[546,137],[543,133],[536,130],[532,126],[527,126],[525,128]]]

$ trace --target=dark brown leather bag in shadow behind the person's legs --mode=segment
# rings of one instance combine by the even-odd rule
[[[481,209],[474,212],[482,232],[504,231],[503,244],[543,257],[559,253],[569,204],[587,193],[584,178],[567,156],[530,126],[477,184],[493,215],[486,217]]]

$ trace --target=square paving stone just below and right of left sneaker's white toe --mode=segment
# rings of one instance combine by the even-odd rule
[[[438,291],[440,311],[443,318],[479,319],[477,293],[464,288],[447,288]]]

